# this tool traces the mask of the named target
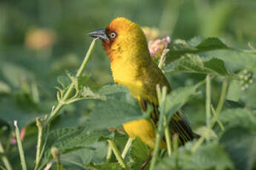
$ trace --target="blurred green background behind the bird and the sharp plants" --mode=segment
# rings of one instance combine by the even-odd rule
[[[2,141],[12,137],[13,119],[24,127],[39,115],[50,112],[56,104],[57,77],[65,75],[67,70],[75,72],[79,67],[92,40],[87,33],[105,28],[119,16],[140,26],[157,27],[172,40],[214,36],[223,38],[230,47],[243,49],[248,49],[248,42],[255,44],[256,41],[255,0],[1,0]],[[86,72],[91,72],[92,87],[113,82],[108,58],[99,42]],[[173,76],[172,79],[177,80],[171,82],[174,89],[184,85],[184,80],[189,84],[193,79],[184,74]],[[214,88],[219,89],[219,84],[213,84]],[[82,124],[93,106],[93,101],[80,101],[65,107],[53,129]],[[26,136],[30,136],[30,140],[24,143],[24,148],[34,151],[35,126],[27,129]],[[16,148],[7,145],[7,151],[13,153],[10,154],[12,162],[19,163]]]

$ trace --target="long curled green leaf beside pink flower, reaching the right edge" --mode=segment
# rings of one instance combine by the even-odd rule
[[[197,54],[200,58],[218,58],[225,62],[229,69],[252,69],[256,65],[255,53],[246,50],[240,50],[228,47],[219,38],[191,38],[190,41],[180,39],[171,43],[170,52],[168,52],[165,63],[169,64],[172,61],[183,57],[184,55]],[[241,62],[243,58],[243,62]]]

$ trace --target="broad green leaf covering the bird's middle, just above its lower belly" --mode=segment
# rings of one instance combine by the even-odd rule
[[[113,96],[112,96],[113,97]],[[125,93],[116,94],[107,101],[99,101],[91,113],[91,128],[106,129],[122,125],[131,120],[145,118],[139,104],[131,95]]]

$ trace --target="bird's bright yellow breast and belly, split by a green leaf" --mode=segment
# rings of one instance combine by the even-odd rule
[[[111,62],[111,70],[114,82],[128,86],[134,98],[140,99],[142,95],[145,95],[143,81],[140,79],[140,68],[137,65],[125,62],[121,58],[115,58],[115,61]],[[154,148],[156,137],[151,122],[146,119],[134,120],[123,124],[123,127],[131,138],[140,137],[144,143]],[[165,148],[164,141],[160,147]]]

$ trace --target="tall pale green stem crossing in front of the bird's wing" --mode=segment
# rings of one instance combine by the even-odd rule
[[[157,90],[157,92],[159,92],[159,90]],[[157,96],[161,96],[161,98],[158,99],[158,101],[160,101],[160,118],[159,118],[159,124],[158,124],[158,128],[157,128],[157,132],[156,132],[156,143],[154,145],[154,155],[152,157],[151,160],[151,164],[149,169],[153,170],[154,166],[157,163],[157,157],[159,155],[159,151],[160,151],[160,144],[163,138],[163,133],[164,133],[164,128],[163,128],[163,118],[164,118],[164,114],[165,114],[165,101],[166,101],[166,92],[167,92],[167,88],[166,86],[163,86],[162,89],[162,94],[157,94]]]

